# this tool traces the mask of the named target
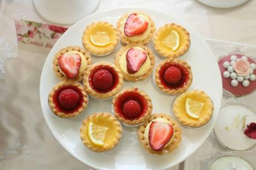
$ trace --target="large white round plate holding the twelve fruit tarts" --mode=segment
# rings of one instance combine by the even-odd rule
[[[107,21],[116,25],[117,20],[127,12],[144,11],[149,14],[155,21],[156,27],[159,28],[165,23],[175,22],[184,26],[191,35],[191,46],[189,52],[181,57],[185,59],[192,67],[193,83],[190,89],[202,89],[213,100],[215,109],[211,121],[202,128],[186,128],[182,127],[182,142],[171,154],[163,156],[150,154],[142,148],[137,137],[137,128],[123,126],[124,133],[121,142],[112,151],[105,153],[92,152],[83,146],[80,139],[80,126],[82,120],[93,112],[111,112],[111,99],[106,101],[99,101],[97,99],[89,98],[88,107],[78,117],[73,119],[62,119],[52,114],[48,106],[48,93],[52,87],[60,80],[52,71],[52,59],[61,48],[66,46],[82,46],[81,37],[85,27],[96,21]],[[114,62],[115,54],[119,51],[121,44],[116,51],[106,57],[92,57],[92,62]],[[147,47],[152,48],[152,43],[147,44]],[[154,51],[154,50],[153,50]],[[155,53],[155,51],[154,51]],[[162,61],[155,53],[156,64]],[[124,82],[125,87],[138,87],[143,89],[152,99],[153,113],[166,113],[174,117],[173,102],[176,96],[161,93],[159,89],[152,82],[152,76],[145,81],[137,83]],[[208,44],[198,33],[194,31],[188,24],[180,21],[174,16],[156,11],[149,8],[118,8],[111,9],[105,12],[93,13],[86,18],[81,19],[58,40],[53,46],[51,52],[43,66],[41,81],[40,81],[40,100],[46,123],[58,142],[81,162],[96,169],[166,169],[175,166],[184,161],[193,152],[198,149],[205,139],[209,136],[214,127],[216,118],[218,117],[220,102],[222,97],[222,83],[219,73],[219,67],[213,53]]]

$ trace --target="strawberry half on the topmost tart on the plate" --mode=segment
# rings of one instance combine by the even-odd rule
[[[149,26],[143,17],[138,16],[136,13],[130,14],[125,22],[125,35],[128,37],[144,33]]]

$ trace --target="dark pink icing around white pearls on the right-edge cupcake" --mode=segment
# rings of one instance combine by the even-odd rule
[[[223,63],[228,61],[230,62],[230,56],[232,56],[233,54],[230,54],[228,56],[223,57],[222,59],[220,59],[220,61],[218,62],[219,64],[219,68],[220,68],[220,73],[221,73],[221,77],[222,77],[222,83],[223,83],[223,88],[229,92],[231,92],[232,94],[234,94],[235,96],[243,96],[245,94],[249,94],[252,93],[254,91],[254,89],[256,89],[256,81],[250,81],[250,84],[248,87],[244,87],[242,85],[242,83],[238,83],[237,87],[233,87],[231,85],[231,81],[232,79],[229,78],[225,78],[223,77],[223,72],[227,71],[227,68],[223,67]],[[241,58],[243,55],[240,54],[235,54],[238,58]],[[253,61],[253,59],[248,57],[248,62],[250,63],[255,63]],[[254,74],[256,74],[256,69],[254,70]]]

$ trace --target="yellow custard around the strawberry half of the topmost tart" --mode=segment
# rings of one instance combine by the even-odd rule
[[[144,33],[138,34],[138,35],[135,35],[135,36],[131,36],[131,37],[125,36],[126,39],[129,39],[129,41],[143,41],[144,39],[149,37],[150,29],[151,29],[149,18],[147,18],[146,16],[144,16],[142,14],[138,14],[138,16],[139,17],[143,17],[145,19],[145,21],[147,21],[149,24],[147,25],[147,29],[146,29],[146,31]],[[126,19],[124,21],[122,21],[122,23],[121,23],[122,34],[124,34],[124,35],[125,35],[125,22],[126,22]]]

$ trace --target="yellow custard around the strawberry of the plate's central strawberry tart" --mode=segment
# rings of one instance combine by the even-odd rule
[[[144,51],[143,48],[141,47],[132,47],[132,48],[137,48],[137,49],[140,49],[141,51]],[[128,49],[129,50],[129,49]],[[127,50],[127,51],[128,51]],[[120,69],[122,72],[124,72],[125,74],[131,76],[131,77],[139,77],[139,76],[142,76],[144,75],[147,71],[149,71],[149,68],[151,66],[151,62],[150,62],[150,58],[149,56],[147,56],[146,58],[146,61],[141,65],[139,71],[137,71],[136,73],[134,74],[130,74],[128,71],[127,71],[127,62],[126,62],[126,54],[127,54],[127,51],[125,51],[122,56],[120,57],[120,60],[119,60],[119,64],[120,64]]]

